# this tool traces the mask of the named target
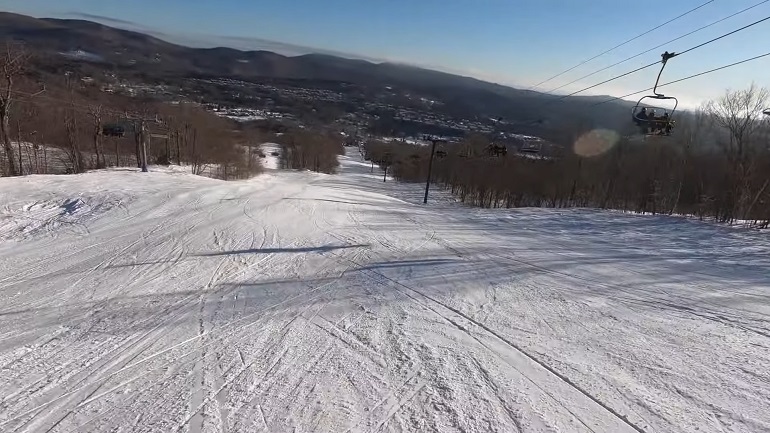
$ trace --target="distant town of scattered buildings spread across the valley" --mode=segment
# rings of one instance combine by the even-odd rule
[[[194,103],[238,122],[289,122],[302,125],[327,112],[327,124],[347,137],[346,144],[365,138],[425,142],[426,135],[460,141],[469,133],[483,134],[525,154],[548,153],[554,145],[515,132],[515,125],[502,119],[457,117],[443,112],[445,104],[435,98],[401,92],[385,86],[378,93],[364,93],[354,85],[335,83],[324,88],[297,83],[260,83],[232,78],[189,78],[183,83],[141,83],[107,74],[102,90],[130,96],[151,95],[170,102]],[[90,80],[90,77],[84,80]],[[327,116],[328,117],[328,116]]]

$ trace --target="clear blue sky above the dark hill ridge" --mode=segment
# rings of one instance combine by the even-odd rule
[[[33,16],[90,14],[122,27],[162,32],[188,45],[229,45],[289,54],[319,50],[400,61],[529,87],[706,0],[663,6],[626,0],[0,0],[0,9]],[[761,0],[715,0],[655,32],[603,55],[538,90],[549,91]],[[770,2],[560,89],[572,92],[770,16]],[[102,20],[104,21],[104,20]],[[770,51],[770,20],[671,60],[671,81]],[[770,87],[770,57],[672,85],[685,106],[752,81]],[[651,87],[650,68],[583,94],[621,96]]]

